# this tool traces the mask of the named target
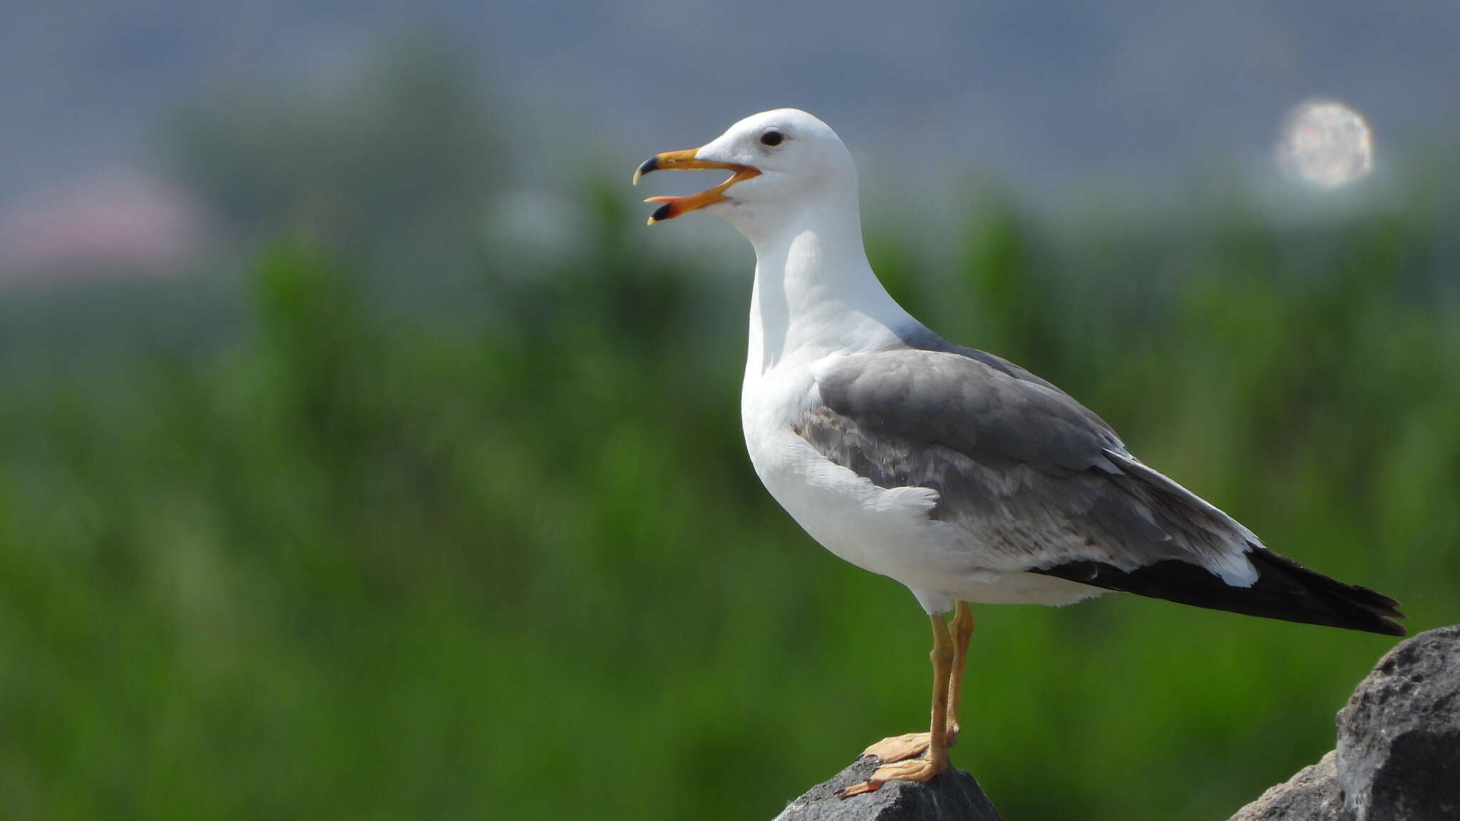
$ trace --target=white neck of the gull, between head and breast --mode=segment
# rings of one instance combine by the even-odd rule
[[[736,221],[755,245],[748,383],[783,362],[894,346],[895,330],[915,323],[867,263],[856,194],[807,206],[791,219]]]

